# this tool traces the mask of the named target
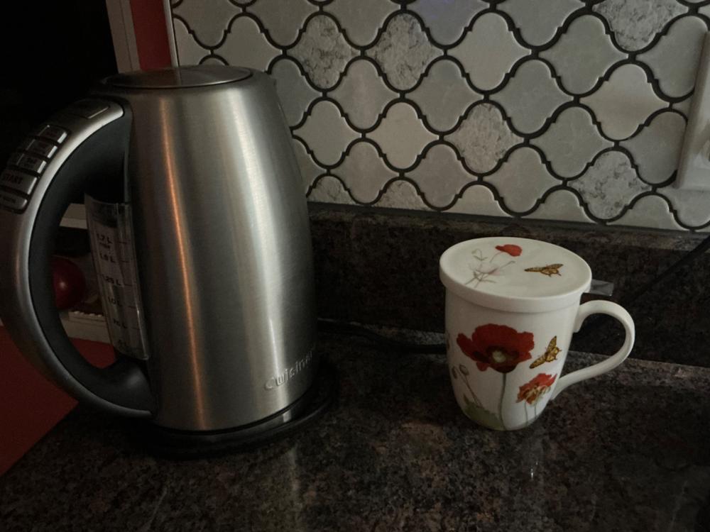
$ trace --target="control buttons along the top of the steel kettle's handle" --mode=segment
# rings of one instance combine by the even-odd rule
[[[91,120],[108,109],[107,101],[83,99],[64,109],[62,114]],[[31,133],[10,155],[5,170],[0,174],[0,208],[16,213],[26,209],[38,181],[71,135],[69,126],[53,121],[42,124]]]

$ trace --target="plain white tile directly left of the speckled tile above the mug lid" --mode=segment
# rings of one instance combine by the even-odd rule
[[[425,145],[437,137],[425,128],[412,106],[398,102],[391,106],[375,131],[367,134],[382,148],[395,168],[408,168]]]

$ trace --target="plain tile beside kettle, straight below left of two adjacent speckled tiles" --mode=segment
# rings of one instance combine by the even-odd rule
[[[316,162],[334,165],[358,134],[340,116],[337,106],[330,101],[319,101],[303,126],[293,132],[305,140],[315,155]]]

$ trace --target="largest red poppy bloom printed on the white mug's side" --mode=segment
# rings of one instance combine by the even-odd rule
[[[530,351],[535,347],[532,333],[518,333],[512,327],[493,323],[476,327],[471,338],[459,333],[456,343],[479,370],[492,367],[501,373],[509,373],[523,360],[532,358]]]

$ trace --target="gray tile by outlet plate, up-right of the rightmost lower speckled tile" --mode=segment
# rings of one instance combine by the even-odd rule
[[[660,113],[638,135],[621,145],[631,152],[643,179],[661,183],[677,169],[685,121],[673,111]]]

